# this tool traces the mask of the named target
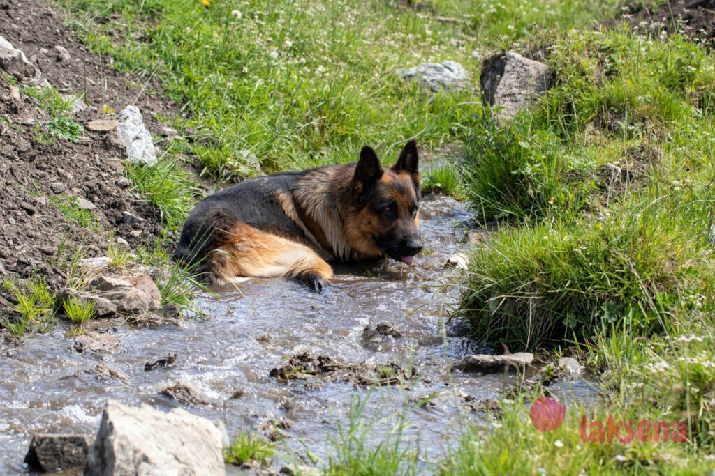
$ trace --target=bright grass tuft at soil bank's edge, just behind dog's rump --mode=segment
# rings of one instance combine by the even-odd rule
[[[159,209],[169,229],[182,226],[202,191],[177,161],[155,165],[127,164],[127,177],[144,198]]]

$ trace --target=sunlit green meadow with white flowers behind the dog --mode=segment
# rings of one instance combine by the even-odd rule
[[[415,11],[384,0],[59,3],[94,51],[162,79],[187,113],[179,126],[199,131],[189,152],[217,178],[259,173],[242,151],[273,172],[354,161],[365,143],[389,162],[397,151],[388,146],[428,123],[425,145],[461,137],[473,106],[450,108],[473,94],[433,94],[395,69],[451,59],[476,72],[470,54],[485,40],[523,39],[537,24],[585,23],[616,4],[430,1]],[[105,22],[113,13],[120,19]],[[437,18],[451,14],[464,21]]]

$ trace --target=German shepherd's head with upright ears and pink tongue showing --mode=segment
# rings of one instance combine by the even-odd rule
[[[352,202],[358,211],[354,230],[364,248],[377,248],[408,265],[422,249],[418,161],[415,141],[408,142],[388,168],[380,166],[375,151],[365,146],[352,178]]]

